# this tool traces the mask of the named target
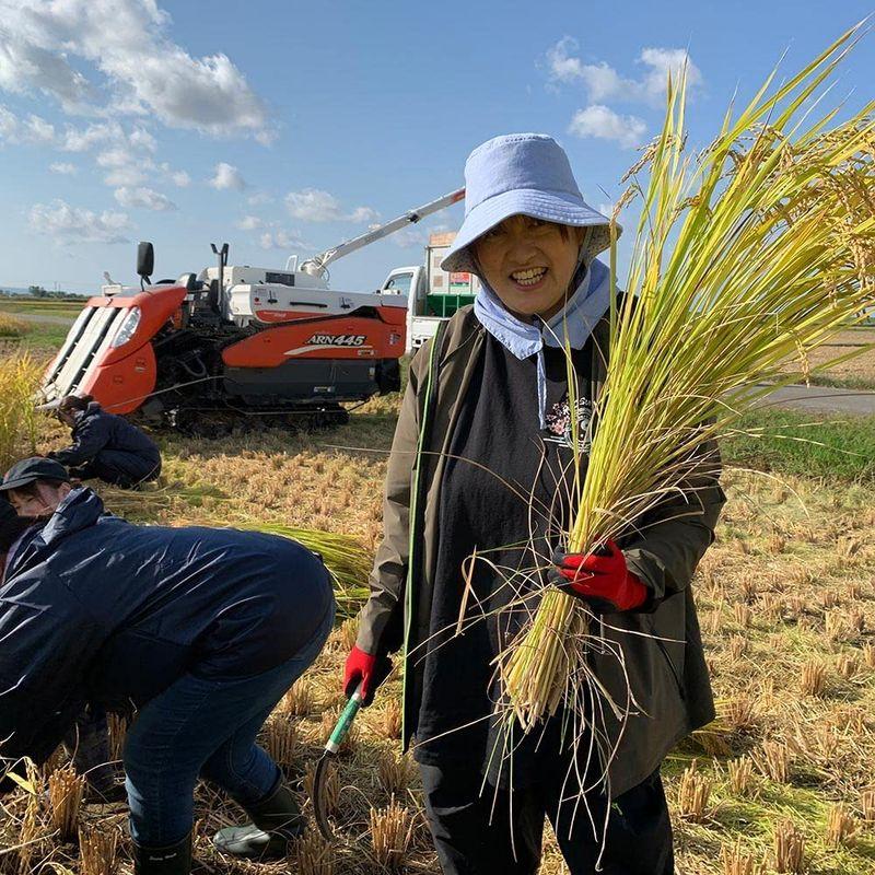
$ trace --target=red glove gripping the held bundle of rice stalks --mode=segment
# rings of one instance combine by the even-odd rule
[[[609,540],[592,553],[553,556],[551,582],[569,595],[584,598],[597,614],[632,610],[648,600],[648,587],[626,565],[622,550]]]

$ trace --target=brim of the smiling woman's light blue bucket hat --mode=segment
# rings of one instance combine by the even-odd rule
[[[591,257],[610,246],[610,220],[582,201],[535,189],[517,188],[503,191],[478,203],[466,217],[462,228],[441,261],[441,269],[450,272],[477,272],[471,243],[511,215],[530,215],[545,222],[573,228],[594,228],[588,245]],[[622,229],[617,225],[617,236]]]

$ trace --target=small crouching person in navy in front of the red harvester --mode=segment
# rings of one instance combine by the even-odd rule
[[[61,398],[58,419],[72,429],[72,443],[49,453],[80,480],[97,478],[122,489],[161,474],[161,453],[151,438],[124,417],[107,413],[91,395]]]

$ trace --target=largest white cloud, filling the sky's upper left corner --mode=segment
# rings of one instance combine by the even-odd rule
[[[243,73],[222,52],[195,58],[175,43],[156,0],[0,0],[0,89],[49,94],[68,113],[149,115],[270,139],[265,105]]]

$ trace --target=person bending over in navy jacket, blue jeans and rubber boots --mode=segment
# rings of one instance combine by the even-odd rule
[[[85,702],[132,702],[124,766],[135,872],[190,871],[198,777],[252,820],[217,833],[221,850],[284,855],[303,818],[255,738],[330,631],[322,561],[260,533],[132,525],[104,515],[90,489],[57,489],[57,510],[19,537],[0,588],[7,763],[44,761]]]

